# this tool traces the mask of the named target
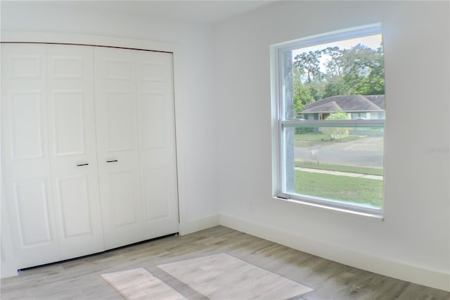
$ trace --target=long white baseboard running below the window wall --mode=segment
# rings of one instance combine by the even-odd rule
[[[285,232],[266,225],[251,223],[248,220],[234,218],[230,215],[221,214],[219,223],[234,230],[283,244],[293,249],[329,259],[330,261],[450,292],[450,274],[441,271],[371,256],[334,244],[327,244],[326,242],[295,235],[293,232]]]

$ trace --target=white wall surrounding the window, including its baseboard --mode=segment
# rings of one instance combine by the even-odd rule
[[[269,46],[381,23],[385,220],[272,199]],[[449,2],[286,1],[217,25],[221,224],[449,290]]]

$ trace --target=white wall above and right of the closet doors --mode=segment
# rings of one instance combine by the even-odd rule
[[[1,30],[101,35],[179,44],[176,95],[181,233],[218,224],[212,28],[68,1],[1,1]]]

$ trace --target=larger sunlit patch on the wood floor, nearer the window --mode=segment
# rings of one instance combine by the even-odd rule
[[[158,265],[209,299],[289,299],[312,289],[229,254]]]

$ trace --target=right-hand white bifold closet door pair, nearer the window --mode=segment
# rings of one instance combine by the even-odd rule
[[[94,57],[105,249],[178,232],[172,54]]]

